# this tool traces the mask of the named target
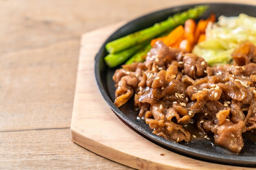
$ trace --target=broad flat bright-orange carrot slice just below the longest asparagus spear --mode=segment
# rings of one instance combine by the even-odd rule
[[[184,34],[184,28],[182,25],[175,28],[171,33],[169,33],[164,39],[164,44],[166,46],[171,46]]]

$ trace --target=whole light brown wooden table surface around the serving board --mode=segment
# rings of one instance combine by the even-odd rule
[[[131,169],[70,139],[80,36],[185,2],[1,0],[0,169]]]

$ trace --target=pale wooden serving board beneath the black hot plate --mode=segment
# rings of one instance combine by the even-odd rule
[[[71,122],[72,141],[137,169],[247,169],[178,155],[148,141],[119,120],[97,89],[94,57],[108,35],[122,24],[124,22],[82,36]]]

